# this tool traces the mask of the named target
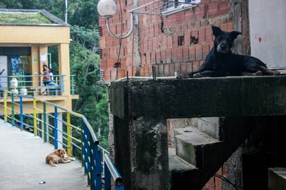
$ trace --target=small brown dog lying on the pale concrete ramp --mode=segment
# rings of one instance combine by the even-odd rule
[[[65,149],[57,149],[53,153],[46,156],[46,163],[52,167],[57,166],[58,163],[69,163],[71,160],[75,160],[75,158],[66,157]]]

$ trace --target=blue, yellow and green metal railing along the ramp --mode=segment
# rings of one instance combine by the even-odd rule
[[[32,97],[24,101],[19,94],[3,90],[3,103],[0,108],[5,122],[20,129],[30,128],[35,136],[40,136],[44,142],[50,142],[55,149],[64,147],[68,156],[75,156],[82,162],[90,189],[111,189],[111,177],[115,181],[115,189],[124,189],[124,183],[108,151],[99,146],[99,140],[86,117],[64,107]],[[32,114],[25,114],[32,113]],[[39,117],[41,115],[41,118]]]

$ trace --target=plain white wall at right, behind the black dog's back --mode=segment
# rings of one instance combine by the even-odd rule
[[[249,0],[249,25],[251,56],[286,68],[286,0]]]

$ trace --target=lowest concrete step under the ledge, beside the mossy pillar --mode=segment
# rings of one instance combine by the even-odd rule
[[[192,190],[202,189],[206,183],[202,171],[176,156],[174,148],[169,148],[169,172],[172,190],[186,187],[191,187]]]

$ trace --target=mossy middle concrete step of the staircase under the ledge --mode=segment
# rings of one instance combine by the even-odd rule
[[[222,141],[198,131],[196,127],[175,130],[175,153],[200,169],[207,169],[218,160]]]

